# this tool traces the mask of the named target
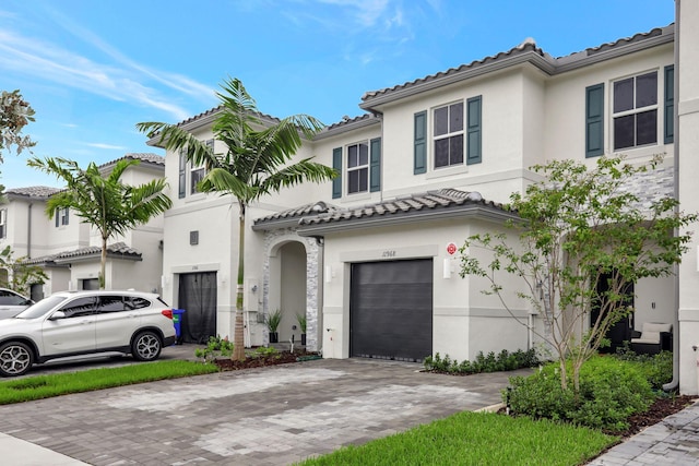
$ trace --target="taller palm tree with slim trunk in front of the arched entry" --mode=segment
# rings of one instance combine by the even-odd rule
[[[144,122],[137,128],[149,138],[159,136],[168,151],[185,150],[193,164],[208,171],[198,189],[202,192],[230,194],[238,204],[238,280],[236,294],[235,348],[233,359],[245,359],[242,323],[242,280],[245,276],[246,210],[251,202],[282,188],[305,181],[321,182],[334,178],[335,171],[305,158],[291,163],[303,144],[323,128],[317,119],[296,115],[270,124],[263,122],[252,97],[237,79],[228,79],[216,93],[221,100],[213,123],[214,138],[227,151],[213,150],[176,124]]]

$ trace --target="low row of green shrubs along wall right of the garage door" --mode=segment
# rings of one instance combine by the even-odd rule
[[[455,359],[451,359],[449,355],[445,355],[442,358],[439,353],[435,356],[428,356],[425,358],[425,370],[430,372],[445,372],[452,374],[467,375],[472,373],[482,372],[498,372],[498,371],[511,371],[521,368],[531,368],[538,365],[538,358],[536,351],[530,349],[529,351],[522,351],[521,349],[509,353],[507,349],[500,351],[499,355],[495,355],[494,351],[484,355],[483,351],[476,355],[474,361],[463,360],[459,362]]]

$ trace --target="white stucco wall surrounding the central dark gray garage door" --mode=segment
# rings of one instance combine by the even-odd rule
[[[435,353],[463,360],[475,358],[478,351],[526,349],[526,328],[501,310],[497,298],[479,292],[483,284],[460,278],[458,261],[447,253],[448,243],[462,246],[472,231],[467,222],[440,220],[328,235],[325,273],[330,271],[331,278],[325,279],[323,294],[323,356],[350,356],[352,263],[430,258],[434,261]],[[451,262],[448,278],[445,260]]]

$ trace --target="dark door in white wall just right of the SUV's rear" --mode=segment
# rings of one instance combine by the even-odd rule
[[[180,327],[182,343],[206,343],[210,336],[216,336],[215,272],[180,275],[178,302],[179,309],[185,310]]]

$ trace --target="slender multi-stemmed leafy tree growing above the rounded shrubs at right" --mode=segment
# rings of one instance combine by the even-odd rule
[[[631,166],[621,157],[602,157],[592,169],[573,160],[535,166],[545,181],[510,196],[520,218],[508,226],[519,241],[507,234],[475,235],[461,249],[462,277],[485,277],[489,286],[483,291],[499,297],[510,313],[512,298],[538,312],[545,330],[533,331],[554,349],[564,389],[566,360],[578,392],[582,363],[606,343],[609,327],[632,311],[626,306],[627,284],[671,275],[687,250],[689,234],[676,231],[697,215],[680,213],[672,198],[642,205],[628,189],[630,179],[661,160]],[[486,265],[478,259],[481,248],[491,254]],[[503,280],[511,286],[512,277],[521,279],[524,291],[506,288]],[[599,288],[600,280],[607,286]],[[594,307],[599,316],[590,322]]]

